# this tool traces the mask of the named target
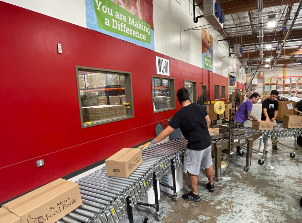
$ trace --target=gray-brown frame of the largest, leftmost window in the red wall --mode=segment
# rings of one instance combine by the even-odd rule
[[[126,95],[126,101],[129,101],[129,103],[130,103],[130,108],[126,109],[127,117],[120,117],[120,116],[118,116],[118,117],[114,117],[114,118],[111,118],[110,120],[106,120],[106,121],[100,120],[98,122],[84,124],[84,122],[83,122],[83,113],[82,113],[82,106],[81,106],[80,86],[79,86],[79,70],[88,71],[88,72],[89,71],[92,71],[92,72],[99,71],[99,72],[106,72],[106,73],[114,73],[114,74],[124,75],[125,76],[125,95]],[[82,129],[83,128],[89,128],[89,127],[92,127],[92,126],[107,124],[107,123],[111,123],[111,122],[122,121],[122,120],[129,119],[129,118],[134,118],[133,90],[132,90],[132,73],[131,72],[120,71],[120,70],[112,70],[112,69],[101,69],[101,68],[88,67],[88,66],[76,66],[76,82],[77,82],[78,99],[79,99],[79,110],[80,110],[80,119],[81,119],[81,127],[82,127]],[[129,86],[129,87],[126,87],[126,86]],[[129,97],[130,97],[130,99],[129,99]],[[127,98],[129,100],[127,100]]]

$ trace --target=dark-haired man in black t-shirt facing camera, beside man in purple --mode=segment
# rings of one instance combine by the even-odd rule
[[[276,90],[272,90],[269,98],[265,99],[262,102],[262,113],[261,113],[261,120],[262,121],[273,121],[274,125],[277,125],[276,117],[278,115],[279,104],[276,100],[279,95],[279,92]],[[267,145],[267,141],[266,141]],[[271,139],[271,146],[273,149],[281,150],[280,147],[277,145],[277,138]],[[268,151],[268,148],[265,149]]]

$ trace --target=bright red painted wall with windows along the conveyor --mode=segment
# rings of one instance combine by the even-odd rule
[[[153,114],[156,56],[170,60],[176,90],[184,79],[197,82],[197,95],[206,84],[212,99],[214,84],[227,90],[226,77],[24,8],[0,2],[0,21],[0,202],[153,138],[158,122],[166,126],[180,105]],[[135,118],[82,129],[76,65],[132,72]],[[37,168],[38,159],[45,166]]]

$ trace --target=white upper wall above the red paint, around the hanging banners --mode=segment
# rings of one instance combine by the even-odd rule
[[[3,0],[22,8],[48,15],[72,24],[86,27],[85,0]],[[196,16],[202,11],[196,8]],[[218,31],[215,31],[204,18],[193,22],[192,0],[153,0],[154,45],[155,51],[167,56],[202,67],[201,25],[213,37],[214,55],[213,72],[228,76],[228,72],[236,72],[239,60],[228,57],[228,45]],[[196,30],[188,30],[198,27]],[[235,75],[236,76],[236,75]],[[239,80],[241,82],[241,74]]]

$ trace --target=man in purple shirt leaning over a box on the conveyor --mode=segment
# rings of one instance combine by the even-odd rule
[[[237,122],[241,121],[242,124],[246,120],[261,121],[260,119],[257,119],[255,118],[254,115],[252,115],[253,104],[256,104],[259,101],[259,99],[260,99],[260,95],[258,93],[252,93],[250,99],[246,100],[239,106],[237,112],[235,113],[235,121]],[[243,155],[243,152],[240,152],[240,146],[237,146],[236,148],[237,148],[236,154]]]

